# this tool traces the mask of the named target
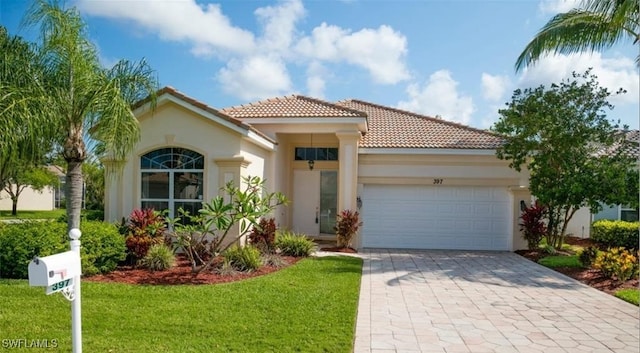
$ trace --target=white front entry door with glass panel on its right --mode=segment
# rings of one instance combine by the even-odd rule
[[[293,171],[293,230],[332,235],[338,205],[338,172]]]

